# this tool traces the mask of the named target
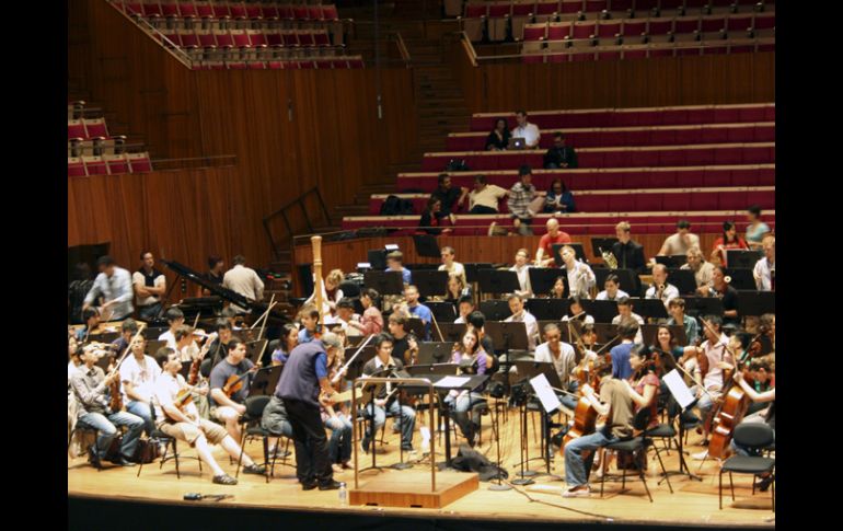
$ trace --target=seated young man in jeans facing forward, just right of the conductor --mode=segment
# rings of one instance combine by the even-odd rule
[[[385,369],[402,370],[404,363],[392,357],[392,337],[386,334],[380,334],[374,339],[376,356],[363,366],[363,378],[371,377],[376,372]],[[363,392],[366,396],[366,392]],[[408,405],[400,405],[397,401],[397,389],[390,383],[382,385],[378,397],[373,404],[367,403],[363,408],[363,417],[369,419],[374,417],[374,431],[371,431],[369,423],[366,424],[366,435],[362,438],[362,451],[369,453],[369,442],[372,434],[377,432],[383,423],[386,422],[386,411],[389,409],[395,417],[395,422],[401,426],[401,448],[404,451],[413,451],[413,428],[416,424],[416,409]]]

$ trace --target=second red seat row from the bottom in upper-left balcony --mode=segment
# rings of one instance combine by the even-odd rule
[[[180,48],[254,48],[264,46],[331,46],[327,32],[311,32],[307,30],[288,32],[265,32],[262,30],[231,30],[201,32],[193,30],[180,30],[177,32],[163,32],[162,35]],[[165,46],[170,46],[166,41]]]

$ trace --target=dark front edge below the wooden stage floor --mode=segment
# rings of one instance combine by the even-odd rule
[[[131,530],[178,530],[193,529],[261,529],[257,526],[278,526],[285,529],[313,529],[314,524],[332,526],[337,530],[366,529],[404,531],[432,530],[477,530],[495,531],[504,529],[532,530],[646,530],[659,531],[691,529],[765,529],[770,524],[696,524],[681,526],[648,521],[608,521],[594,519],[581,520],[543,520],[535,516],[529,520],[506,519],[499,516],[481,519],[460,513],[411,515],[404,512],[381,512],[376,508],[362,510],[313,509],[289,507],[255,507],[217,504],[215,501],[176,501],[163,503],[135,498],[106,498],[102,496],[68,495],[68,529],[111,529],[114,531]],[[536,510],[543,508],[536,505]],[[314,530],[315,531],[315,530]]]

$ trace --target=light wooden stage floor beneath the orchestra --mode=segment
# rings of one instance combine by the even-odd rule
[[[540,426],[539,417],[535,418],[536,427]],[[503,422],[503,419],[501,419]],[[504,467],[510,474],[510,480],[516,478],[519,460],[518,449],[518,417],[515,409],[510,412],[508,422],[501,424],[501,434],[504,438],[500,441],[500,452]],[[540,454],[539,443],[533,437],[532,426],[530,431],[530,455]],[[492,436],[488,417],[483,419],[483,443],[480,450],[484,452],[490,461],[495,461],[496,447],[494,441],[489,440]],[[702,447],[694,445],[700,440],[698,435],[689,436],[686,451],[697,452]],[[453,453],[457,453],[455,438]],[[419,445],[418,431],[416,431],[416,448]],[[186,446],[181,445],[183,455],[195,454]],[[290,445],[292,450],[292,445]],[[261,454],[261,442],[250,443],[247,452],[254,458]],[[443,458],[443,446],[437,446],[437,460]],[[215,457],[220,465],[234,474],[234,465],[229,464],[224,451],[219,447],[215,450]],[[406,455],[405,455],[406,457]],[[627,492],[619,494],[621,489],[620,482],[607,482],[605,497],[599,497],[600,484],[596,481],[594,474],[591,475],[592,496],[591,498],[563,498],[556,493],[530,492],[524,493],[524,488],[507,492],[488,490],[489,483],[480,484],[480,489],[467,496],[446,506],[442,509],[400,509],[382,507],[340,507],[337,492],[320,492],[317,489],[303,492],[296,481],[295,469],[291,466],[276,463],[275,476],[266,484],[264,477],[255,475],[240,475],[240,483],[235,486],[215,485],[211,483],[209,469],[204,466],[201,476],[195,460],[181,461],[182,478],[175,476],[175,465],[172,461],[164,464],[163,470],[159,470],[158,462],[148,464],[143,467],[141,476],[136,477],[137,467],[129,469],[105,469],[97,472],[91,467],[84,458],[68,458],[68,494],[102,496],[108,498],[122,499],[146,499],[163,503],[183,503],[182,496],[185,493],[196,492],[203,494],[230,494],[234,497],[220,501],[231,506],[253,506],[262,508],[293,508],[302,510],[319,511],[377,511],[381,516],[394,513],[396,516],[419,516],[436,518],[461,518],[470,517],[475,519],[490,519],[495,521],[556,521],[559,523],[575,523],[577,521],[591,522],[615,522],[615,523],[672,523],[685,526],[711,526],[711,527],[763,527],[774,528],[774,513],[771,510],[770,492],[751,493],[751,478],[748,475],[735,476],[736,500],[732,501],[729,496],[728,476],[724,476],[724,508],[718,509],[717,504],[717,470],[715,461],[705,461],[702,470],[697,470],[700,461],[693,461],[686,457],[691,470],[702,476],[702,482],[691,481],[686,476],[674,475],[671,477],[673,494],[668,490],[667,483],[658,485],[660,476],[656,472],[658,461],[655,452],[649,453],[649,473],[647,484],[653,494],[653,503],[649,503],[644,486],[637,477],[627,477]],[[665,455],[665,465],[667,470],[678,470],[679,458],[675,449],[670,451],[670,455]],[[379,447],[378,464],[388,466],[399,461],[399,439],[397,435],[391,434],[391,422],[386,426],[386,443]],[[288,459],[293,463],[292,455]],[[360,455],[360,466],[367,466],[371,462],[370,455]],[[429,473],[429,461],[427,464],[416,464],[412,471]],[[107,464],[106,466],[111,466]],[[544,462],[535,460],[530,463],[530,469],[544,471]],[[564,477],[564,460],[562,455],[556,455],[552,472]],[[406,471],[384,470],[380,474],[406,474]],[[441,474],[455,473],[442,472]],[[660,469],[659,469],[660,473]],[[377,475],[374,471],[368,471],[360,474],[361,483],[366,478]],[[429,474],[428,474],[429,476]],[[335,474],[337,481],[346,482],[348,487],[354,486],[354,471],[346,471]],[[429,481],[429,480],[428,480]],[[536,485],[551,485],[554,487],[564,487],[565,483],[552,481],[545,475],[534,477]],[[428,483],[429,486],[429,483]],[[531,501],[527,495],[535,501]]]

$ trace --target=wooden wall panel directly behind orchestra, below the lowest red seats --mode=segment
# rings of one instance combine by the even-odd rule
[[[607,236],[614,236],[614,234],[607,234]],[[661,249],[661,244],[670,234],[638,234],[633,235],[633,239],[644,245],[645,256],[648,258],[655,256]],[[708,254],[714,244],[714,241],[720,235],[718,234],[698,234],[700,244],[703,251]],[[602,262],[601,258],[592,258],[591,254],[591,235],[571,235],[571,240],[580,242],[589,256],[589,262]],[[451,245],[457,252],[458,262],[489,262],[489,263],[515,263],[515,255],[519,249],[526,247],[530,251],[530,256],[535,255],[535,251],[539,247],[540,236],[494,236],[494,238],[473,238],[473,236],[439,236],[438,243],[440,247]],[[358,240],[348,240],[340,242],[323,242],[322,243],[322,270],[328,272],[334,268],[343,269],[344,272],[354,272],[357,269],[359,262],[366,262],[366,253],[370,249],[383,249],[388,243],[395,243],[404,254],[405,264],[436,264],[439,263],[436,258],[419,257],[416,255],[415,245],[413,244],[412,236],[395,236],[395,238],[363,238]],[[297,264],[312,264],[313,263],[313,250],[308,244],[296,245],[293,249],[293,265]],[[305,297],[310,293],[301,293],[301,286],[298,278],[298,273],[293,270],[295,292],[297,297]]]

